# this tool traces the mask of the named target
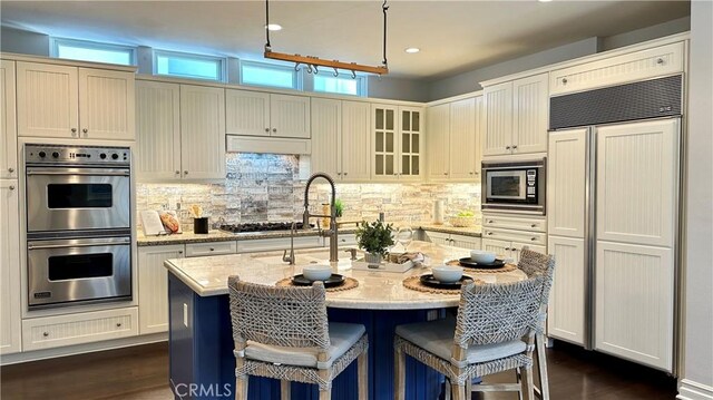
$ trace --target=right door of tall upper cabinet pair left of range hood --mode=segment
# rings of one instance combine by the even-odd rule
[[[225,178],[225,90],[180,85],[183,179]]]

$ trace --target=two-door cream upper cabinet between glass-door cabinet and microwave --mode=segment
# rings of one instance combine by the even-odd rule
[[[482,96],[428,108],[429,181],[480,176]]]

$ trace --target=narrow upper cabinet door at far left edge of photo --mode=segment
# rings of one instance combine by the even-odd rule
[[[18,177],[18,131],[14,108],[14,62],[0,61],[0,178]]]

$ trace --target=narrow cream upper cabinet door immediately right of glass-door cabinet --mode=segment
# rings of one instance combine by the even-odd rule
[[[429,107],[426,131],[429,179],[448,178],[450,130],[450,104]]]

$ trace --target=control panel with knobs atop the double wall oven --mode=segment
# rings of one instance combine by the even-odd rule
[[[128,147],[76,147],[36,144],[25,146],[25,162],[27,164],[128,166],[130,157],[131,154]]]

